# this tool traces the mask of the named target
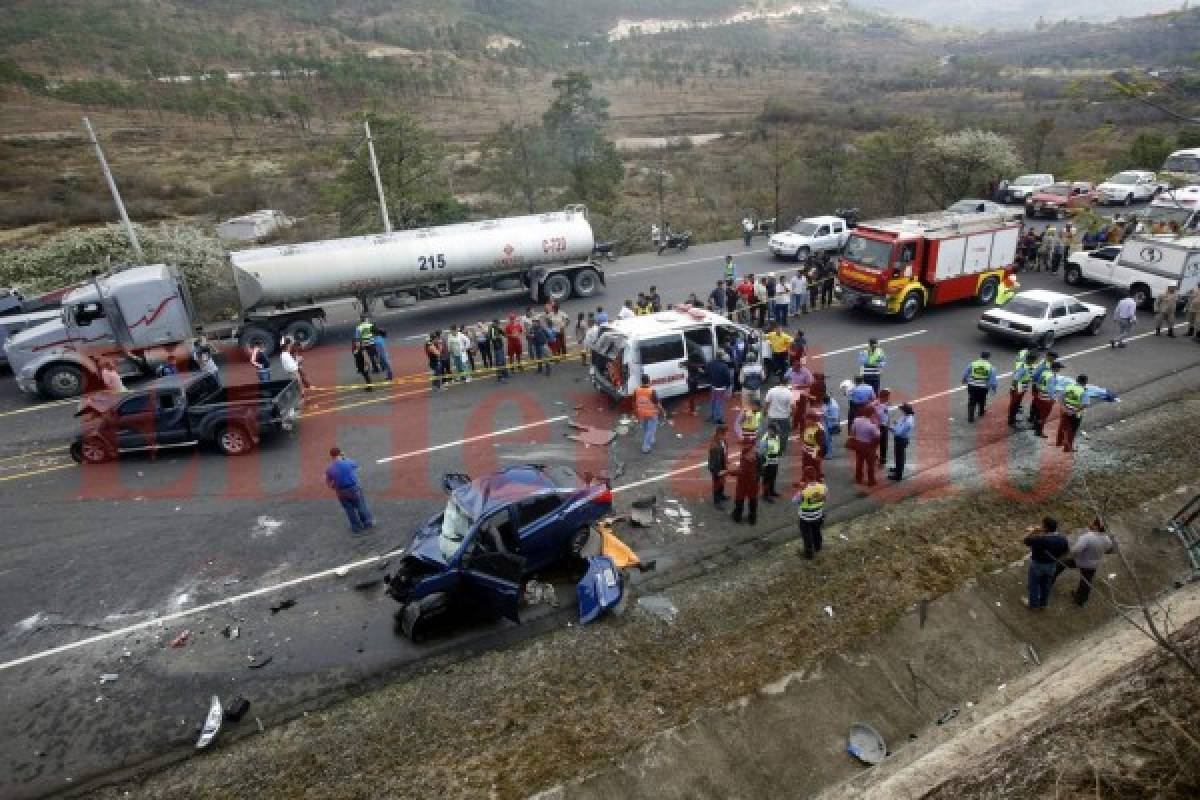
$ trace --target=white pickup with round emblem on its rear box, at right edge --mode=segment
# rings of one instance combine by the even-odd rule
[[[1200,236],[1138,235],[1120,246],[1073,253],[1063,279],[1072,285],[1092,281],[1117,287],[1129,291],[1140,307],[1152,308],[1154,297],[1170,285],[1178,287],[1180,297],[1196,288]]]

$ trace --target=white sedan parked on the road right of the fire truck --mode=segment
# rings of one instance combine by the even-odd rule
[[[1106,313],[1104,306],[1093,306],[1067,294],[1031,289],[1016,293],[1003,306],[985,311],[979,318],[979,330],[989,336],[1049,348],[1068,333],[1097,333]]]

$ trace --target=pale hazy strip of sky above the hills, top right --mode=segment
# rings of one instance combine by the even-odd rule
[[[854,5],[896,17],[924,19],[938,25],[961,25],[977,30],[1032,29],[1060,19],[1103,23],[1122,17],[1139,17],[1176,11],[1181,0],[853,0]]]

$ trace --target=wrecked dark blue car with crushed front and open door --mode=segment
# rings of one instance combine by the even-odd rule
[[[413,535],[388,594],[401,604],[398,630],[425,638],[434,625],[462,614],[514,622],[532,575],[578,559],[594,522],[612,511],[605,483],[566,467],[509,467],[472,480],[443,479],[445,510]]]

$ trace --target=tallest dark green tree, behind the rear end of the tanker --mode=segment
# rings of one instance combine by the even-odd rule
[[[592,79],[582,72],[568,72],[551,85],[558,96],[542,114],[542,127],[553,161],[565,173],[568,199],[611,207],[624,168],[604,131],[608,101],[592,94]]]

